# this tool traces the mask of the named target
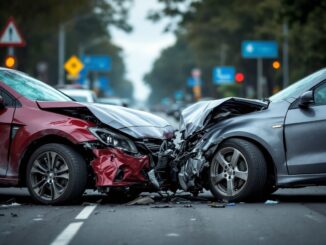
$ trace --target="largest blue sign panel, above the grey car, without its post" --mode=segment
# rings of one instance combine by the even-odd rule
[[[243,41],[242,57],[247,59],[277,58],[277,42],[275,41]]]

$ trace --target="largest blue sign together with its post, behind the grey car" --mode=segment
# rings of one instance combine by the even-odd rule
[[[263,59],[277,58],[278,46],[275,41],[243,41],[242,57],[257,59],[257,98],[263,97]]]

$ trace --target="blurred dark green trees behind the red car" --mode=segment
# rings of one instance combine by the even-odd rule
[[[113,71],[108,74],[111,85],[117,95],[132,94],[130,82],[124,78],[125,66],[122,50],[115,46],[110,37],[108,26],[131,31],[126,22],[129,3],[132,0],[11,0],[0,1],[0,25],[13,16],[21,29],[27,45],[16,48],[17,69],[37,76],[39,62],[48,64],[48,76],[45,80],[57,84],[58,73],[58,30],[64,24],[66,30],[67,60],[72,54],[78,55],[81,47],[95,39],[103,39],[100,45],[85,49],[85,53],[106,54],[112,57]],[[6,55],[6,49],[0,49],[0,59]],[[123,89],[128,88],[128,92]],[[131,91],[131,92],[130,92]]]

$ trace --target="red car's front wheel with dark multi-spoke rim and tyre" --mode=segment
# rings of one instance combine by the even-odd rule
[[[26,181],[31,196],[38,202],[68,204],[78,200],[86,189],[86,163],[70,146],[46,144],[30,157]]]

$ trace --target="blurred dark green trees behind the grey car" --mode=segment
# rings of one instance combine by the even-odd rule
[[[245,86],[255,88],[256,60],[241,57],[243,40],[276,40],[282,61],[283,24],[289,23],[290,81],[294,82],[326,63],[326,2],[322,0],[159,0],[163,8],[149,18],[171,19],[169,30],[185,33],[189,55],[203,72],[204,96],[225,96],[211,82],[214,66],[235,66],[244,72]],[[171,28],[173,27],[174,28]],[[163,59],[162,57],[159,58]],[[269,93],[282,84],[282,70],[272,69],[264,59],[263,73]],[[174,64],[174,59],[166,63]],[[164,71],[160,71],[164,73]],[[181,70],[179,71],[181,72]],[[155,73],[155,66],[152,71]],[[153,74],[154,76],[154,74]],[[158,86],[158,85],[154,85]],[[175,86],[176,87],[176,86]],[[153,87],[159,90],[159,87]],[[172,87],[171,87],[172,89]],[[237,95],[242,95],[241,90]],[[170,93],[172,90],[170,91]],[[230,91],[232,92],[232,91]],[[168,94],[168,91],[165,92]]]

